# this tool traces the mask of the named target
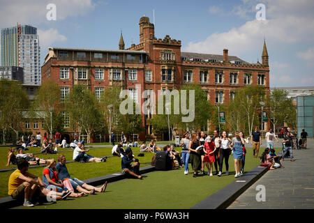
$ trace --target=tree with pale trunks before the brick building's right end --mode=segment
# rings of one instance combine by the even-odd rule
[[[237,91],[234,100],[230,101],[229,112],[231,122],[237,123],[237,129],[244,128],[244,132],[249,135],[253,132],[253,126],[258,123],[258,112],[260,110],[260,102],[265,99],[265,89],[262,86],[246,86]],[[241,123],[244,123],[241,126]]]

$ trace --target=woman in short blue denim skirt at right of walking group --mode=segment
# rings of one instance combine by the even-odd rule
[[[239,177],[241,176],[240,170],[242,167],[242,157],[243,157],[243,148],[241,144],[244,144],[244,139],[240,137],[240,132],[236,131],[235,132],[235,137],[232,139],[232,144],[231,146],[232,151],[233,151],[233,158],[234,158],[234,169],[235,169],[235,175],[234,177]]]

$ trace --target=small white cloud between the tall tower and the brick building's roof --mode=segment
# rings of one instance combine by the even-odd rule
[[[66,41],[66,36],[61,35],[57,29],[47,29],[47,30],[40,30],[38,29],[38,36],[39,36],[39,44],[41,49],[47,49],[50,47],[52,43],[57,41]]]

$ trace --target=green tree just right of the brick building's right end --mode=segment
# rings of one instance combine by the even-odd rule
[[[292,128],[297,127],[296,108],[292,104],[292,98],[287,98],[288,92],[274,89],[269,95],[267,105],[271,114],[271,123],[274,131],[278,123],[287,123]]]

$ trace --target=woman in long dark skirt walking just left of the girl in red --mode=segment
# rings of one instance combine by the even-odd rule
[[[190,164],[194,171],[193,177],[197,176],[197,171],[201,168],[201,157],[197,148],[200,146],[200,141],[197,140],[197,134],[192,134],[192,139],[190,140],[190,144],[188,144],[188,151],[190,151]]]

